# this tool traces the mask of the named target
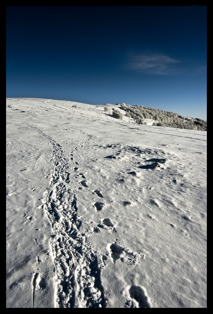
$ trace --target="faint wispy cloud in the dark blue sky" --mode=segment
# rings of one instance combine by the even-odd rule
[[[164,55],[131,54],[128,68],[150,74],[180,74],[182,71],[177,66],[180,62]]]

